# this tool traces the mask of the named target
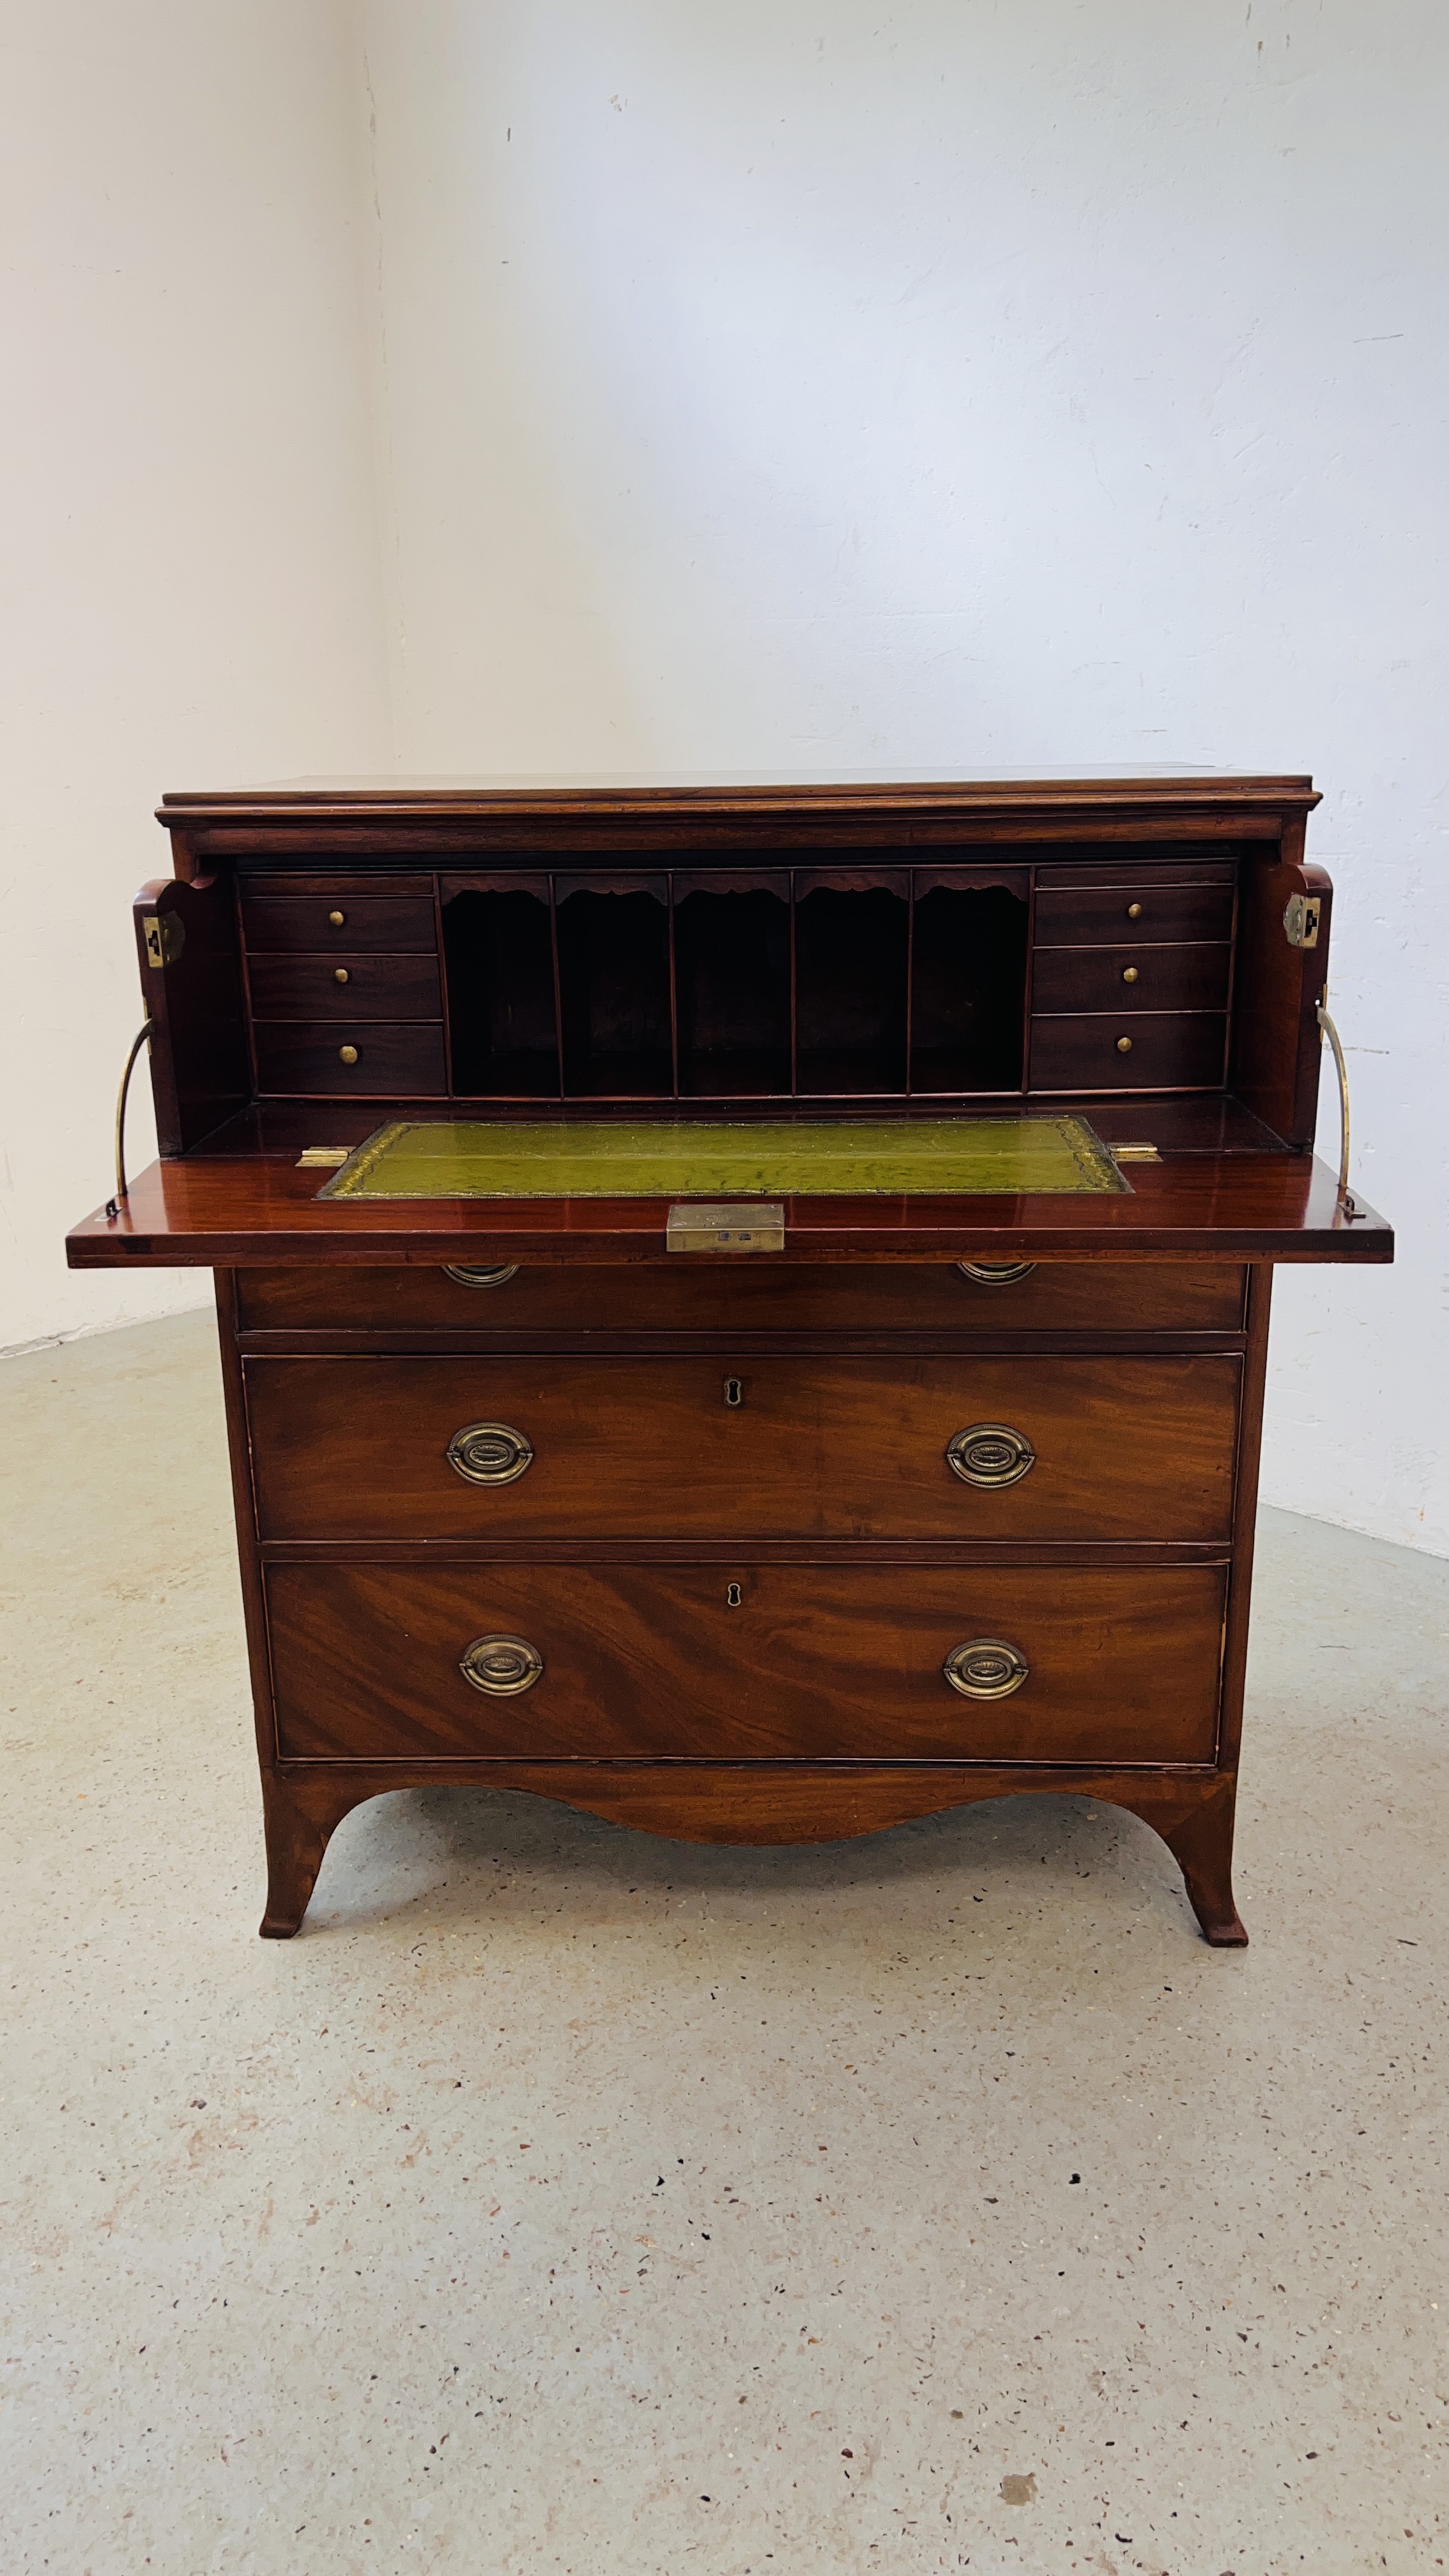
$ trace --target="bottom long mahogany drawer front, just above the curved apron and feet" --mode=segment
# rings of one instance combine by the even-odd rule
[[[284,1759],[1212,1762],[1222,1566],[271,1566]],[[732,1602],[737,1595],[737,1602]],[[472,1687],[516,1641],[511,1695]],[[1008,1698],[946,1659],[1016,1654]],[[487,1659],[482,1659],[487,1662]],[[990,1677],[995,1656],[977,1656]]]

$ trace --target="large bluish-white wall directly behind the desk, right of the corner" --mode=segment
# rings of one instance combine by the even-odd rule
[[[1403,1252],[1279,1273],[1266,1492],[1449,1553],[1441,0],[364,41],[402,765],[1312,768]]]

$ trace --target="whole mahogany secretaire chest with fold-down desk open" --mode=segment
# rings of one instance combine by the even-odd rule
[[[1217,773],[162,804],[162,1159],[70,1260],[217,1273],[263,1932],[351,1806],[456,1780],[719,1842],[1078,1790],[1245,1937],[1271,1267],[1392,1257],[1312,1157],[1312,804]],[[634,1172],[665,1133],[763,1154],[784,1121],[794,1170],[841,1121],[954,1149],[982,1115],[1085,1133],[1101,1185],[877,1172],[670,1249],[732,1236]],[[619,1193],[335,1175],[459,1121],[588,1128]]]

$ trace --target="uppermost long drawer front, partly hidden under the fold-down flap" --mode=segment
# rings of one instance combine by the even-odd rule
[[[498,1255],[495,1255],[498,1257]],[[508,1265],[503,1265],[508,1267]],[[237,1270],[242,1332],[869,1334],[1243,1332],[1238,1262],[1034,1262],[977,1280],[957,1262],[523,1262],[469,1285],[449,1270]]]

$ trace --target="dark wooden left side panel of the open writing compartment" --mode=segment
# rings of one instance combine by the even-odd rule
[[[150,1072],[162,1154],[186,1154],[253,1095],[248,1015],[232,886],[227,878],[157,878],[134,899],[142,1005],[152,1023]],[[162,925],[155,963],[147,922]]]

